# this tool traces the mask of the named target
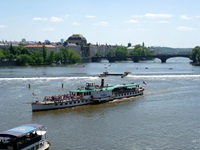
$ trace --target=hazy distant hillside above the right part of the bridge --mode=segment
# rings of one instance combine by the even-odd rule
[[[155,54],[190,54],[193,48],[149,47]]]

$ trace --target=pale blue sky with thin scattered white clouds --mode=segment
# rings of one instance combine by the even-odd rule
[[[200,0],[3,0],[0,41],[88,43],[173,48],[200,45]]]

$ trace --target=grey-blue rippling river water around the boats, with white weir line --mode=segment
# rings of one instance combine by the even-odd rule
[[[200,149],[200,67],[189,62],[173,58],[167,63],[153,60],[0,68],[0,131],[26,123],[43,124],[51,150]],[[144,95],[32,113],[33,100],[67,93],[86,82],[100,84],[98,76],[103,71],[131,72],[125,78],[105,77],[105,83],[140,83]]]

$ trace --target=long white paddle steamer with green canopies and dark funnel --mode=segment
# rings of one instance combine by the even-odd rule
[[[104,86],[102,79],[100,86],[86,83],[85,87],[70,90],[69,94],[46,96],[43,101],[34,101],[31,105],[32,111],[61,109],[134,97],[142,95],[143,91],[144,88],[135,83]]]

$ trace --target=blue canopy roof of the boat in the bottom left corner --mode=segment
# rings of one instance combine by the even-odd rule
[[[43,128],[44,125],[40,124],[25,124],[18,126],[7,131],[0,132],[0,137],[19,138],[33,131]]]

